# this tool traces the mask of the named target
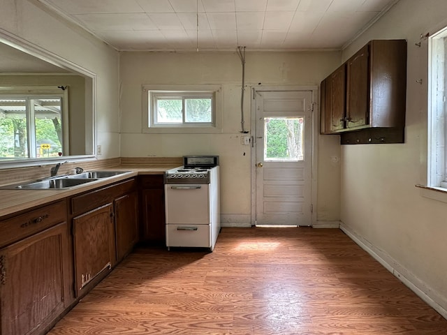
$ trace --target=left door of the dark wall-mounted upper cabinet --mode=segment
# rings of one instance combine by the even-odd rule
[[[329,76],[329,105],[331,108],[330,131],[345,128],[346,116],[346,66],[343,64]]]

